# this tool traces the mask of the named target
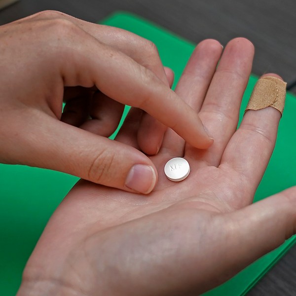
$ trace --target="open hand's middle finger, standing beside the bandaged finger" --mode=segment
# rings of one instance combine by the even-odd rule
[[[236,130],[241,100],[252,70],[254,46],[245,38],[228,42],[199,112],[213,145],[200,150],[186,145],[185,157],[195,167],[218,166],[222,153]]]

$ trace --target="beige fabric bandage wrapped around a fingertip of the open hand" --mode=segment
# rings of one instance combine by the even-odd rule
[[[245,112],[248,110],[273,107],[283,114],[286,99],[286,85],[286,82],[276,77],[263,76],[259,78]]]

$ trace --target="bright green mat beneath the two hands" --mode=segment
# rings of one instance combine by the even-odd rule
[[[101,22],[153,41],[165,66],[175,72],[175,84],[194,44],[135,15],[118,12]],[[241,117],[257,80],[252,75],[243,99]],[[256,200],[296,185],[296,98],[287,95],[276,148],[256,193]],[[285,153],[280,153],[285,151]],[[281,172],[279,174],[279,172]],[[77,178],[63,173],[0,164],[0,295],[13,296],[21,273],[50,215]],[[245,295],[294,244],[293,237],[257,260],[207,296]]]

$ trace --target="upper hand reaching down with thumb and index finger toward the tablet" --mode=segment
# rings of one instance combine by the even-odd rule
[[[148,193],[157,182],[152,161],[105,138],[124,104],[151,115],[139,118],[148,154],[158,152],[166,126],[195,147],[213,142],[170,89],[155,46],[132,33],[45,11],[1,26],[0,52],[0,162]]]

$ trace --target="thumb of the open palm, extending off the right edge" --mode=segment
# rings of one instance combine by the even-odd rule
[[[296,233],[296,186],[229,215],[227,253],[238,272]]]

